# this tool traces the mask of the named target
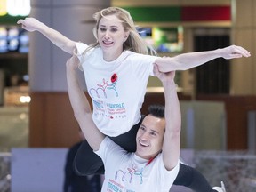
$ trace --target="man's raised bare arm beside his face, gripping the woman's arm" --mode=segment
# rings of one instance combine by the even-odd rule
[[[174,82],[175,71],[161,73],[155,65],[156,76],[164,86],[165,99],[165,132],[163,143],[164,166],[167,170],[172,170],[180,158],[180,102],[176,92]]]

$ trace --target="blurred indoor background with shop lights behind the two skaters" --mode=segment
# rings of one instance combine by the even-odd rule
[[[189,164],[203,172],[212,186],[224,180],[227,191],[255,191],[254,0],[0,1],[0,191],[47,191],[22,189],[24,175],[29,182],[30,173],[19,173],[33,162],[34,169],[43,172],[42,164],[55,161],[60,162],[59,168],[55,166],[60,181],[52,191],[61,191],[63,157],[80,140],[68,100],[64,65],[69,55],[41,34],[20,28],[17,20],[35,17],[73,40],[91,44],[95,41],[92,14],[108,6],[131,12],[140,36],[161,56],[230,44],[251,52],[250,58],[220,58],[179,71],[176,83],[182,112],[181,148],[189,151]],[[81,83],[83,78],[81,73]],[[151,103],[164,103],[163,89],[154,77],[149,79],[142,113]],[[36,160],[40,151],[54,161]],[[34,161],[28,164],[26,159]],[[49,178],[49,172],[36,178],[42,181],[47,174]]]

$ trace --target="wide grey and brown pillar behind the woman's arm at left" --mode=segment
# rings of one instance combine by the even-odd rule
[[[33,0],[30,17],[72,40],[92,44],[92,14],[109,5],[110,0]],[[78,124],[68,100],[65,63],[70,55],[38,32],[29,37],[29,145],[69,147],[79,140]]]

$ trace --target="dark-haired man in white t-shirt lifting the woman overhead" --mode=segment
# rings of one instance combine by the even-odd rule
[[[180,168],[181,123],[175,72],[160,74],[155,68],[164,86],[165,109],[151,108],[152,114],[145,116],[137,133],[136,152],[127,153],[93,123],[90,104],[76,79],[77,66],[75,57],[67,61],[68,95],[85,139],[104,162],[102,191],[169,191]]]

